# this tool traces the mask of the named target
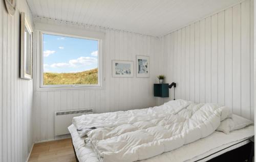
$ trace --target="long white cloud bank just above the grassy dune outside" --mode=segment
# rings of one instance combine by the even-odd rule
[[[98,59],[91,57],[80,57],[74,60],[70,60],[69,63],[54,63],[52,68],[67,68],[67,67],[80,67],[84,65],[92,65],[98,62]]]

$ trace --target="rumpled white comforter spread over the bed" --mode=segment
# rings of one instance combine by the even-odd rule
[[[142,110],[82,115],[73,124],[81,136],[87,134],[101,161],[136,161],[204,138],[230,115],[218,104],[174,100]]]

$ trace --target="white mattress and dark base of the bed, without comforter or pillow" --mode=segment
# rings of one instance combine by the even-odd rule
[[[76,127],[69,126],[76,159],[79,162],[100,161],[91,143],[80,137]],[[245,161],[252,157],[254,127],[247,126],[229,134],[214,131],[209,136],[140,161]],[[195,149],[196,148],[196,149]]]

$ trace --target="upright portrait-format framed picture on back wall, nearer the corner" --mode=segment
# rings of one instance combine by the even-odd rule
[[[136,56],[136,76],[150,77],[150,57]]]

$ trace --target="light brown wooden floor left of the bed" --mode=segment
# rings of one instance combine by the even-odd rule
[[[35,144],[29,162],[75,162],[71,139]]]

